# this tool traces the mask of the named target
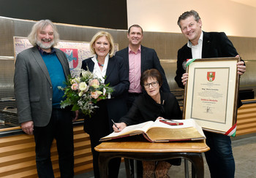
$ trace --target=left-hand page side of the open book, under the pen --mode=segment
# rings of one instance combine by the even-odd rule
[[[103,137],[102,139],[108,139],[108,138],[116,138],[120,136],[127,136],[129,134],[139,134],[148,131],[148,128],[154,123],[153,121],[148,121],[146,123],[139,123],[136,125],[129,125],[126,128],[124,128],[120,132],[113,132],[110,133],[108,136]]]

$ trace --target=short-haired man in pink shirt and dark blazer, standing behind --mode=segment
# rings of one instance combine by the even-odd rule
[[[129,47],[116,52],[116,56],[124,58],[124,63],[129,69],[129,97],[127,106],[131,107],[132,102],[138,94],[142,93],[140,86],[140,76],[147,69],[157,69],[163,77],[162,91],[170,92],[169,85],[162,69],[157,53],[154,49],[141,45],[143,39],[143,29],[138,25],[132,25],[128,29],[127,38]]]

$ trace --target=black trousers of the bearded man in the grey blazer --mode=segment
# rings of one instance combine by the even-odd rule
[[[45,127],[34,126],[37,174],[39,178],[54,177],[50,160],[50,147],[53,139],[56,139],[61,178],[74,177],[73,125],[72,112],[69,110],[53,109],[48,125]]]

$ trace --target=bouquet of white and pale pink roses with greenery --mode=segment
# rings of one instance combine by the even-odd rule
[[[113,92],[113,88],[105,85],[100,79],[94,77],[91,71],[80,70],[80,77],[68,77],[67,87],[64,90],[66,99],[61,101],[61,108],[73,106],[72,111],[81,109],[83,114],[89,115],[97,108],[95,105],[99,99],[105,99]]]

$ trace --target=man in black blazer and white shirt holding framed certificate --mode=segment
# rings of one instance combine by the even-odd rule
[[[180,88],[187,83],[186,62],[189,58],[223,58],[238,57],[235,47],[225,33],[202,31],[202,21],[197,12],[184,12],[178,18],[178,26],[182,34],[189,40],[178,50],[177,71],[175,80]],[[237,63],[238,74],[246,71],[244,61]],[[238,106],[241,106],[241,101]],[[206,144],[210,151],[205,152],[206,161],[212,178],[231,178],[235,175],[235,160],[233,158],[230,136],[204,131]]]

